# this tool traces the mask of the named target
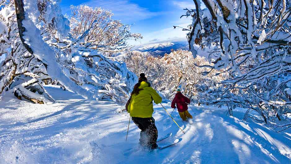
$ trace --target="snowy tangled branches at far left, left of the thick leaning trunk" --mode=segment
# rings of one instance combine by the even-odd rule
[[[5,88],[14,88],[19,99],[35,103],[54,101],[41,85],[49,78],[45,65],[31,55],[20,40],[14,2],[2,1],[1,5],[0,51],[6,57],[0,64],[0,94]]]

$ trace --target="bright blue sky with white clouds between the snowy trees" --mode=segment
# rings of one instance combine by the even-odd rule
[[[174,29],[173,25],[187,27],[191,18],[182,18],[183,8],[194,8],[192,0],[62,0],[63,14],[70,15],[70,5],[87,4],[91,7],[102,7],[114,13],[113,19],[126,24],[134,24],[131,31],[141,33],[144,37],[132,44],[147,44],[165,40],[185,40],[186,33]]]

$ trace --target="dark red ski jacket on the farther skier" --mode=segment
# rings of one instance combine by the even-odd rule
[[[185,112],[186,110],[188,110],[188,105],[187,104],[190,103],[190,100],[185,97],[181,92],[176,93],[174,100],[172,101],[172,108],[176,108],[176,104],[177,104],[177,108],[179,112]]]

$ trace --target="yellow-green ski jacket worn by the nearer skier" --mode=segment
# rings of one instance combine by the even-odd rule
[[[152,117],[152,113],[154,112],[152,100],[156,104],[160,104],[162,98],[147,82],[141,82],[139,89],[138,95],[131,95],[127,112],[130,113],[131,117]]]

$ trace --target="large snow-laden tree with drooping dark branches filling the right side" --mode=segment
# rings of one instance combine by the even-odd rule
[[[194,0],[196,10],[185,9],[185,16],[193,17],[184,29],[189,48],[196,57],[194,44],[214,47],[209,51],[213,65],[205,67],[227,69],[230,77],[201,101],[255,110],[264,122],[281,120],[291,112],[290,0],[202,2],[207,9],[201,10],[199,0]]]

